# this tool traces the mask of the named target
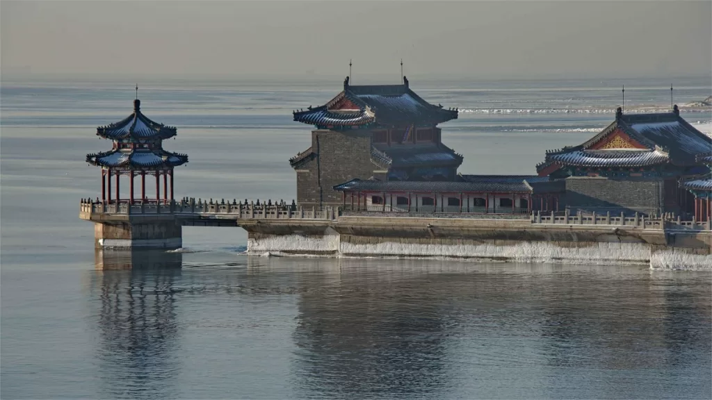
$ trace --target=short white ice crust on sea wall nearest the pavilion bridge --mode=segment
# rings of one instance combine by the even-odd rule
[[[247,253],[263,254],[298,251],[300,253],[323,253],[338,251],[339,236],[269,236],[267,238],[248,238]]]

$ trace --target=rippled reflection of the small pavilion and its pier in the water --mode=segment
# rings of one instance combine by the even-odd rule
[[[97,251],[98,376],[106,398],[175,397],[180,254]]]

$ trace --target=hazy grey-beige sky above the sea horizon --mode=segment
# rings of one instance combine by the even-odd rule
[[[0,1],[11,73],[712,71],[712,1]]]

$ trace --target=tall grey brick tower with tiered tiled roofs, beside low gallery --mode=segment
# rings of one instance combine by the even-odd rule
[[[312,145],[289,160],[300,206],[338,206],[333,186],[351,179],[450,181],[462,156],[441,142],[458,110],[432,105],[402,85],[349,85],[320,107],[294,112],[314,125]]]

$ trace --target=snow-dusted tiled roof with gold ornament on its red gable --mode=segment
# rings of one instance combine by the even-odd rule
[[[590,140],[546,152],[539,174],[560,167],[637,168],[671,164],[691,167],[712,157],[712,138],[696,130],[679,109],[656,114],[623,115]]]

